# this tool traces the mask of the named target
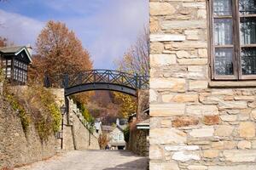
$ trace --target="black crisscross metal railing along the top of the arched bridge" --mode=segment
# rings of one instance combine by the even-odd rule
[[[149,77],[132,75],[121,71],[90,70],[81,71],[77,74],[61,75],[59,77],[48,77],[46,75],[44,84],[46,87],[71,88],[88,83],[118,84],[134,89],[147,89]]]

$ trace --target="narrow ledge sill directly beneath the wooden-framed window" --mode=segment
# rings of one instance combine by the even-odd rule
[[[256,81],[211,81],[210,88],[256,88]]]

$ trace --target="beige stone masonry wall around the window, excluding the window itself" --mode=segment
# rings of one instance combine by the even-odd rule
[[[150,0],[150,170],[256,169],[256,87],[210,87],[207,45],[206,0]]]

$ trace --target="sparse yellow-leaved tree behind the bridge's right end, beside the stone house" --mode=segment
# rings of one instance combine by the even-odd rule
[[[131,45],[123,58],[115,61],[119,71],[133,75],[149,77],[149,32],[145,28],[143,34],[137,38],[137,42]],[[127,94],[113,93],[116,100],[122,101],[121,115],[130,116],[137,110],[137,100]]]

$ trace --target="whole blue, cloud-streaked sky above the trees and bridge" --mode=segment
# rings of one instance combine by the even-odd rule
[[[48,20],[76,32],[95,68],[114,69],[113,60],[148,26],[148,0],[9,0],[0,3],[0,36],[15,44],[35,43]]]

